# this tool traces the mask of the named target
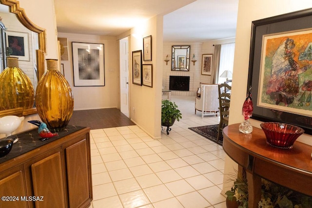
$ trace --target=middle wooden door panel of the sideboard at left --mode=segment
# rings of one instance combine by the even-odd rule
[[[60,152],[47,156],[31,165],[35,196],[43,196],[36,201],[36,208],[64,208],[64,178]]]

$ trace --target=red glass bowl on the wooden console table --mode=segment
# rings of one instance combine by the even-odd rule
[[[284,149],[292,149],[294,141],[304,133],[302,128],[284,123],[265,122],[260,127],[269,145]]]

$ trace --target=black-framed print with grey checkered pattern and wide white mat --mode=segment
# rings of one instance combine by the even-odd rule
[[[105,86],[104,44],[72,42],[74,86]]]

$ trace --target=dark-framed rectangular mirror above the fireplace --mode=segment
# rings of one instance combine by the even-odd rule
[[[171,71],[190,71],[190,45],[173,45]]]

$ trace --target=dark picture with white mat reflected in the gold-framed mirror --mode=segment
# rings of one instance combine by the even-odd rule
[[[7,53],[20,61],[29,61],[28,33],[6,31]]]

